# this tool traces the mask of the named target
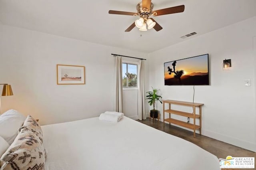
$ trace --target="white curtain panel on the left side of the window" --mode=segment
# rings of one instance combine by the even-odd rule
[[[122,86],[122,57],[116,56],[115,80],[114,80],[114,108],[117,112],[123,112],[123,86]]]

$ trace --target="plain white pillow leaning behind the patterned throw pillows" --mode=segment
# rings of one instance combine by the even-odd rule
[[[18,128],[20,128],[26,117],[14,109],[10,109],[0,115],[0,136],[12,144],[18,135]]]

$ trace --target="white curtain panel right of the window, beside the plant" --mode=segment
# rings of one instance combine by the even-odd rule
[[[144,60],[142,59],[139,61],[138,78],[138,118],[140,121],[142,121],[146,119],[144,91]]]

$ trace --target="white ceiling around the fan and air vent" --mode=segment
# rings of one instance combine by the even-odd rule
[[[163,29],[124,32],[138,17],[139,0],[0,0],[2,24],[136,51],[152,52],[256,16],[256,0],[152,0],[154,10],[185,5],[178,14],[156,16]],[[197,32],[190,38],[181,36]]]

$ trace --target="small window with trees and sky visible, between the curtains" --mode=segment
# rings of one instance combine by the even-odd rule
[[[122,63],[123,87],[137,87],[137,65]]]

